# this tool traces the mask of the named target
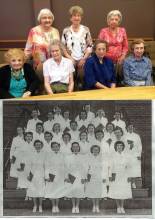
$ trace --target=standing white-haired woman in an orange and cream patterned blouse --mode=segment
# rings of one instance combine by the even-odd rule
[[[30,30],[25,47],[25,55],[33,58],[34,68],[42,80],[42,63],[51,57],[49,46],[54,39],[60,39],[58,30],[52,26],[53,21],[53,13],[49,9],[41,9],[39,25]]]

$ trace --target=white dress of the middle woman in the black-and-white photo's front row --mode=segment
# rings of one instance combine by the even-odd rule
[[[75,177],[73,183],[65,182],[65,196],[68,198],[84,198],[85,185],[81,179],[87,178],[88,166],[85,163],[85,156],[80,154],[68,155],[65,157],[65,178],[68,175]]]

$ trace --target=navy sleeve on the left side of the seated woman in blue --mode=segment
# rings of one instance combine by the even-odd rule
[[[95,87],[95,84],[97,82],[95,79],[93,62],[90,60],[90,58],[86,60],[86,63],[84,65],[84,82],[86,89],[91,89]]]

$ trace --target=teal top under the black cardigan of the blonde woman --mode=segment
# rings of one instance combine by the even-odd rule
[[[24,92],[26,91],[26,87],[27,83],[24,76],[22,76],[19,80],[11,77],[9,89],[11,95],[13,95],[14,97],[22,97]]]

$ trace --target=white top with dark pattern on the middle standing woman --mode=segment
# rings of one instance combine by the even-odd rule
[[[91,53],[92,38],[89,28],[80,25],[78,32],[74,32],[72,26],[66,27],[62,33],[62,43],[75,60],[80,60],[86,50]]]

